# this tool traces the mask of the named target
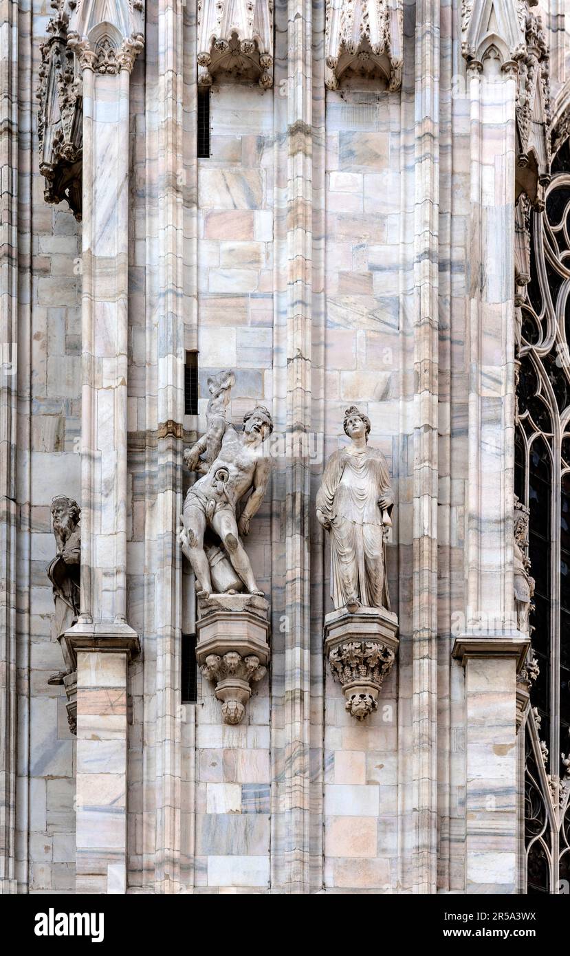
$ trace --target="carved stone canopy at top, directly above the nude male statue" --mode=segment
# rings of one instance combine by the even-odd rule
[[[198,0],[198,82],[213,76],[274,85],[273,0]]]

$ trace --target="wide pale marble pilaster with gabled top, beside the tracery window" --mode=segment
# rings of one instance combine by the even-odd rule
[[[465,5],[463,54],[471,124],[468,267],[469,472],[463,655],[467,694],[466,891],[513,893],[515,870],[515,660],[503,644],[526,641],[514,621],[515,98],[514,55],[524,41],[515,5]],[[476,654],[471,640],[477,642]],[[471,648],[465,654],[462,647]],[[496,721],[483,728],[485,707]],[[484,739],[483,739],[484,738]],[[471,750],[470,750],[471,749]],[[499,758],[506,749],[510,756]],[[484,755],[494,753],[484,778]],[[471,764],[471,770],[470,770]],[[476,764],[476,766],[475,766]],[[489,769],[488,769],[489,770]],[[487,796],[489,799],[487,799]],[[493,850],[489,849],[493,838]],[[486,874],[484,877],[483,874]],[[479,889],[486,883],[483,890]]]

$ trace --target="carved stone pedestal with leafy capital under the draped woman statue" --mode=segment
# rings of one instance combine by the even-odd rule
[[[398,619],[385,608],[332,611],[324,619],[324,651],[340,681],[346,709],[364,720],[378,707],[384,677],[398,650]]]

